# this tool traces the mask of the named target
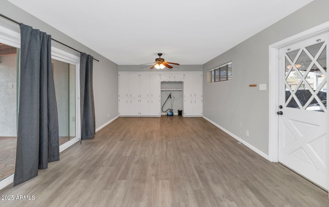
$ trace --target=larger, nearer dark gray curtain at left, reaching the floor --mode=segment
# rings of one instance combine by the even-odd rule
[[[21,72],[14,185],[59,160],[51,36],[21,24]]]

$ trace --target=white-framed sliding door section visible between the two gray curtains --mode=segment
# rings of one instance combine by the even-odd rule
[[[60,152],[80,140],[80,54],[51,47],[51,63],[59,121]]]

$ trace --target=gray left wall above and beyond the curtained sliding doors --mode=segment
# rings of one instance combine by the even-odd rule
[[[47,34],[51,34],[52,38],[69,45],[79,51],[93,55],[99,62],[94,61],[94,97],[95,97],[95,115],[96,128],[102,126],[107,121],[118,115],[118,65],[111,60],[101,56],[92,49],[80,44],[76,40],[70,38],[57,29],[45,24],[40,19],[28,14],[11,3],[0,0],[0,13],[8,16],[17,22],[29,25],[35,29],[40,29]],[[19,32],[19,26],[0,17],[0,25],[11,30]],[[71,50],[61,44],[52,41],[52,46],[58,47],[72,54],[78,52]],[[108,116],[107,116],[108,114]]]

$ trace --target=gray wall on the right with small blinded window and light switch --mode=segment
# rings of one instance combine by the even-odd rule
[[[329,1],[316,0],[204,64],[204,116],[268,154],[268,46],[328,22],[328,8]],[[230,60],[233,79],[208,84],[207,70]]]

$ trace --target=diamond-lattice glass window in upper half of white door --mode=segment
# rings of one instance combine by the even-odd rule
[[[286,107],[326,111],[326,42],[285,54]]]

